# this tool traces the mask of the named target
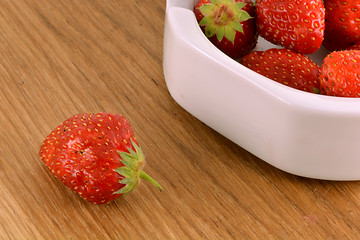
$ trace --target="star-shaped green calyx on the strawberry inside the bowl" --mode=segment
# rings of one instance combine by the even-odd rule
[[[210,0],[210,3],[199,7],[204,15],[199,25],[205,28],[208,38],[216,35],[217,40],[221,42],[225,37],[234,44],[236,31],[244,32],[241,22],[252,18],[243,10],[246,4],[235,0]]]

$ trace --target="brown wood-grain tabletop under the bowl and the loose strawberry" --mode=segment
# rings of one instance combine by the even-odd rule
[[[183,110],[162,72],[165,1],[0,1],[0,239],[360,239],[360,182],[275,169]],[[95,206],[39,160],[80,112],[131,122],[145,170]]]

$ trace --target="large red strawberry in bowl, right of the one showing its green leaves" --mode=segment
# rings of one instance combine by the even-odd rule
[[[301,54],[316,52],[324,39],[322,0],[257,0],[257,28],[266,40]]]

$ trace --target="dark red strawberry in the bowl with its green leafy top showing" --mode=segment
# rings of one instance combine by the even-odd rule
[[[258,34],[251,0],[200,0],[194,12],[205,35],[229,57],[254,49]]]

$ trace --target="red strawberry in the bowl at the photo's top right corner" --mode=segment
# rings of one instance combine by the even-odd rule
[[[329,51],[348,49],[360,41],[360,1],[324,1],[326,28],[323,45]]]

